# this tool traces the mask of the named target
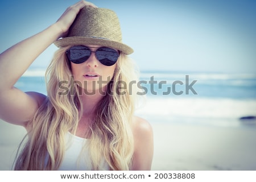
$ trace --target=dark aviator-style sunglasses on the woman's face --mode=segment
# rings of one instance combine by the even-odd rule
[[[66,55],[68,60],[72,63],[80,64],[88,60],[92,52],[94,51],[91,51],[90,48],[86,46],[73,46],[67,50]],[[98,48],[95,51],[95,55],[97,60],[106,66],[114,65],[119,57],[119,53],[109,47]]]

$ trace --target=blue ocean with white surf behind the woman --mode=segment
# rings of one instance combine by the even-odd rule
[[[27,71],[16,83],[46,94],[44,71]],[[256,74],[144,71],[136,83],[143,98],[137,113],[152,122],[255,127]]]

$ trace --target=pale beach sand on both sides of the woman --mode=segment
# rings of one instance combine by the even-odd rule
[[[256,127],[151,122],[154,171],[256,170]],[[0,170],[10,170],[26,131],[0,121]]]

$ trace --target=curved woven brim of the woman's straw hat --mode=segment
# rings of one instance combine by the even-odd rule
[[[101,38],[88,38],[84,36],[69,36],[67,38],[62,38],[56,40],[54,42],[55,46],[57,47],[64,47],[64,46],[72,46],[72,45],[97,45],[97,46],[106,46],[118,49],[122,51],[126,55],[133,53],[133,49],[126,44],[115,42],[113,40],[108,39],[101,39]]]

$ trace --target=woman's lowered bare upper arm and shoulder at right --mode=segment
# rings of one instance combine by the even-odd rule
[[[154,154],[154,138],[150,123],[134,117],[134,156],[131,170],[147,171],[151,169]]]

